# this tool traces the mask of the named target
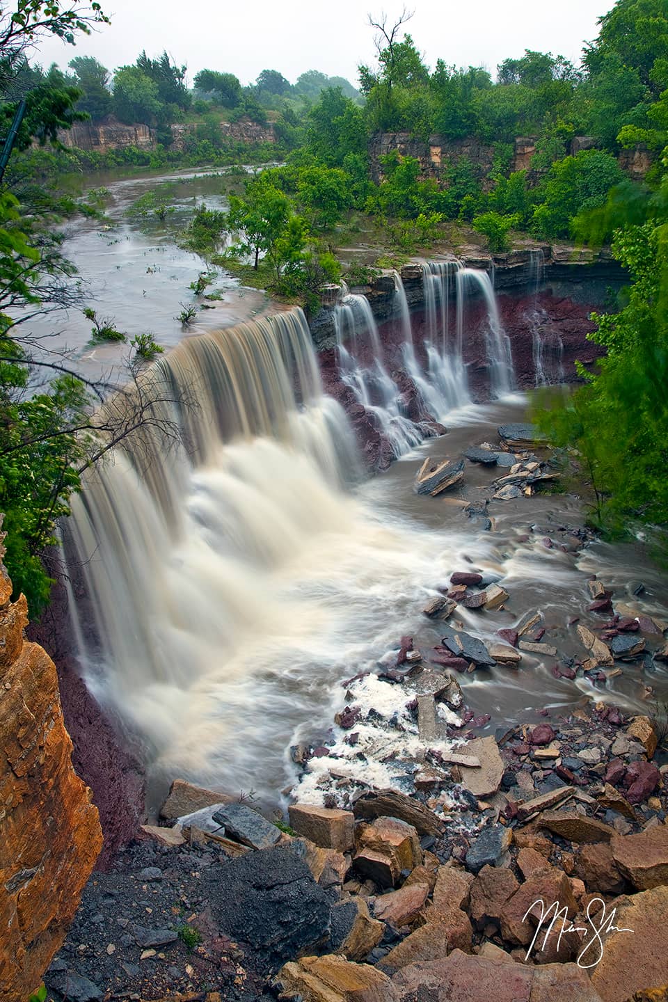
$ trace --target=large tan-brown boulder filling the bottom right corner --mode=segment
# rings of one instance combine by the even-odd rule
[[[666,982],[668,887],[617,898],[613,906],[617,930],[633,932],[612,930],[605,937],[603,956],[592,971],[592,986],[603,1002],[626,1002],[634,992]],[[585,955],[583,962],[590,963],[597,956],[595,952],[590,961]]]

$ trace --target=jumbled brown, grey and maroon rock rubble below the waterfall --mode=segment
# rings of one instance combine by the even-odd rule
[[[552,476],[517,425],[470,450],[467,469],[481,464],[498,503]],[[487,505],[469,514],[492,527]],[[574,562],[590,539],[534,525],[528,544],[537,533]],[[579,615],[524,609],[491,642],[490,617],[519,612],[512,581],[463,562],[424,606],[440,642],[398,624],[377,669],[344,681],[331,728],[292,747],[283,814],[174,782],[159,823],[89,882],[49,997],[665,998],[665,713],[646,682],[642,712],[610,682],[661,670],[668,624],[628,590],[583,571]],[[496,728],[494,706],[468,706],[472,676],[527,665],[591,698]]]

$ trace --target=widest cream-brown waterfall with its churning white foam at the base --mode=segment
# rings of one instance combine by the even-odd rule
[[[84,476],[64,525],[84,674],[156,776],[275,803],[295,730],[328,726],[341,678],[462,543],[342,488],[355,451],[300,311],[189,338],[146,379],[154,422]]]

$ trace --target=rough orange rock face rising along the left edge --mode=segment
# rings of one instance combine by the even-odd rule
[[[55,665],[24,640],[26,600],[11,593],[0,563],[0,998],[25,1002],[65,938],[102,833],[72,768]]]

